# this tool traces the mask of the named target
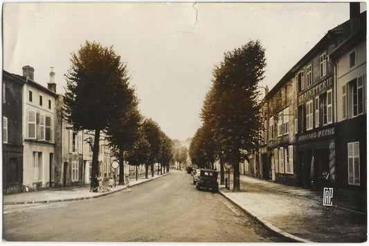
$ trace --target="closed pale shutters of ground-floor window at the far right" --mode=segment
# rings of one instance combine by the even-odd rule
[[[348,143],[348,184],[360,185],[359,142]]]

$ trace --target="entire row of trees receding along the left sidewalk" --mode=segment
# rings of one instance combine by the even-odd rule
[[[120,162],[119,184],[124,184],[124,160],[131,165],[145,164],[145,178],[154,163],[169,167],[171,140],[151,119],[138,111],[139,100],[129,84],[127,64],[113,47],[86,41],[71,54],[67,70],[63,117],[75,131],[87,129],[107,135],[111,149]],[[91,177],[98,175],[99,141],[93,142]],[[91,182],[93,191],[94,182]]]

